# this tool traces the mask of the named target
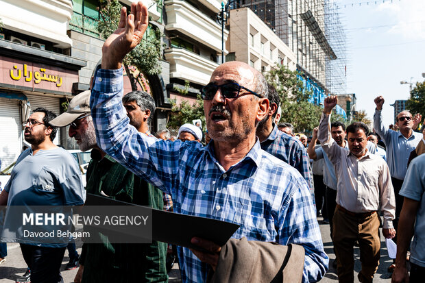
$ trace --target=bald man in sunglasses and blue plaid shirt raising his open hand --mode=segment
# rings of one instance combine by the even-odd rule
[[[104,43],[101,69],[94,79],[90,107],[97,143],[112,158],[171,195],[175,212],[241,225],[233,238],[302,245],[303,281],[320,280],[328,268],[313,199],[304,178],[288,164],[260,149],[256,125],[269,112],[267,82],[241,62],[219,66],[202,88],[207,147],[192,141],[157,140],[128,124],[121,103],[126,53],[141,41],[148,14],[132,3],[125,19]],[[215,270],[221,247],[192,238],[203,253],[180,247],[183,282],[205,282]],[[201,260],[199,260],[199,258]]]

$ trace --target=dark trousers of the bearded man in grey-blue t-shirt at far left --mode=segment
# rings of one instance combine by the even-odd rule
[[[32,283],[63,283],[60,264],[65,247],[37,247],[21,244],[22,256],[31,269]]]

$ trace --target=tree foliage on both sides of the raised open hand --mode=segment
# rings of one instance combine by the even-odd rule
[[[118,0],[100,0],[99,23],[97,30],[102,38],[108,38],[117,29],[120,19],[121,4]],[[147,75],[158,75],[162,71],[160,58],[164,44],[161,42],[160,29],[149,24],[143,39],[130,53],[125,56],[123,66],[130,78],[132,90],[137,89],[137,79],[128,66],[135,66]]]

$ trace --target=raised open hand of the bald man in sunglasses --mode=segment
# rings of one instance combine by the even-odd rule
[[[105,41],[102,47],[102,69],[120,69],[125,55],[142,40],[149,23],[147,7],[142,1],[132,3],[131,13],[121,8],[118,28]]]

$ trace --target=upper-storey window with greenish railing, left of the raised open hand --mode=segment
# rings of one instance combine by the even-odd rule
[[[99,37],[97,21],[99,21],[98,0],[73,0],[73,16],[69,21],[71,29]]]

